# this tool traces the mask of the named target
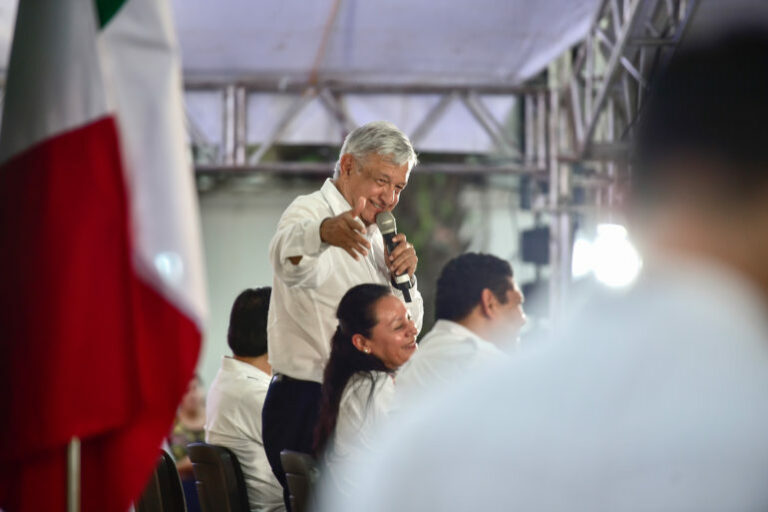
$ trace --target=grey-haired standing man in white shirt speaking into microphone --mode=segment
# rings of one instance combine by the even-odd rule
[[[280,451],[311,452],[341,297],[358,284],[389,285],[421,329],[418,257],[388,214],[416,163],[413,146],[395,125],[363,125],[345,139],[333,178],[296,198],[280,218],[269,247],[275,277],[268,352],[274,377],[262,421],[267,458],[284,489]]]

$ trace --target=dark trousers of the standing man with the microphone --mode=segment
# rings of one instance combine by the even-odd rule
[[[315,423],[320,411],[320,384],[276,374],[269,384],[261,411],[261,435],[272,472],[283,486],[285,506],[290,511],[288,483],[280,452],[312,453]]]

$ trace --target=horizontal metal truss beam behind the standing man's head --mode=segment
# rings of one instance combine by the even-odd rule
[[[419,165],[419,173],[451,174],[533,174],[546,179],[549,158],[548,98],[549,91],[542,87],[467,87],[436,85],[369,85],[369,84],[281,84],[274,80],[252,80],[250,82],[226,83],[187,78],[188,91],[217,91],[221,95],[223,119],[222,143],[206,140],[203,131],[195,126],[187,115],[188,129],[192,144],[198,148],[212,148],[206,158],[196,163],[196,170],[205,173],[236,172],[278,172],[278,173],[327,173],[329,165],[303,162],[268,162],[264,157],[271,148],[280,144],[290,124],[306,113],[305,107],[313,100],[319,100],[323,108],[335,120],[338,129],[338,144],[341,145],[347,133],[357,125],[345,108],[348,94],[377,95],[439,95],[437,103],[409,133],[414,147],[419,144],[443,121],[444,114],[454,103],[461,103],[472,119],[494,142],[492,158],[488,164],[433,164]],[[254,93],[290,94],[293,100],[281,118],[270,127],[268,136],[255,152],[248,154],[247,141],[248,101]],[[524,108],[522,134],[515,135],[491,114],[482,95],[514,96]]]

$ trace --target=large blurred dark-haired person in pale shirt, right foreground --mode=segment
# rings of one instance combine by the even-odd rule
[[[381,436],[325,510],[768,510],[768,32],[681,49],[633,172],[644,273]]]

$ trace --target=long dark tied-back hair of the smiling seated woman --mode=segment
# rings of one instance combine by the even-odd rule
[[[331,357],[323,374],[320,396],[320,413],[315,427],[314,452],[321,456],[336,428],[341,395],[350,377],[358,372],[368,372],[371,393],[375,386],[372,372],[390,370],[373,354],[361,352],[352,344],[352,336],[362,334],[370,338],[371,330],[378,323],[374,306],[382,297],[390,295],[389,287],[380,284],[360,284],[350,288],[339,302],[336,318],[339,326],[331,339]]]

